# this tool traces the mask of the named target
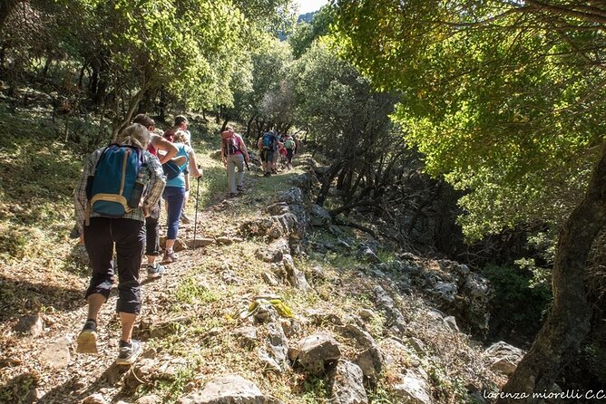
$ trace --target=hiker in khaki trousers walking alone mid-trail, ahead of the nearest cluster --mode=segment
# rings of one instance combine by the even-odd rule
[[[248,164],[250,158],[244,140],[230,126],[221,132],[221,159],[228,170],[229,197],[236,197],[236,191],[244,191],[244,161]]]

